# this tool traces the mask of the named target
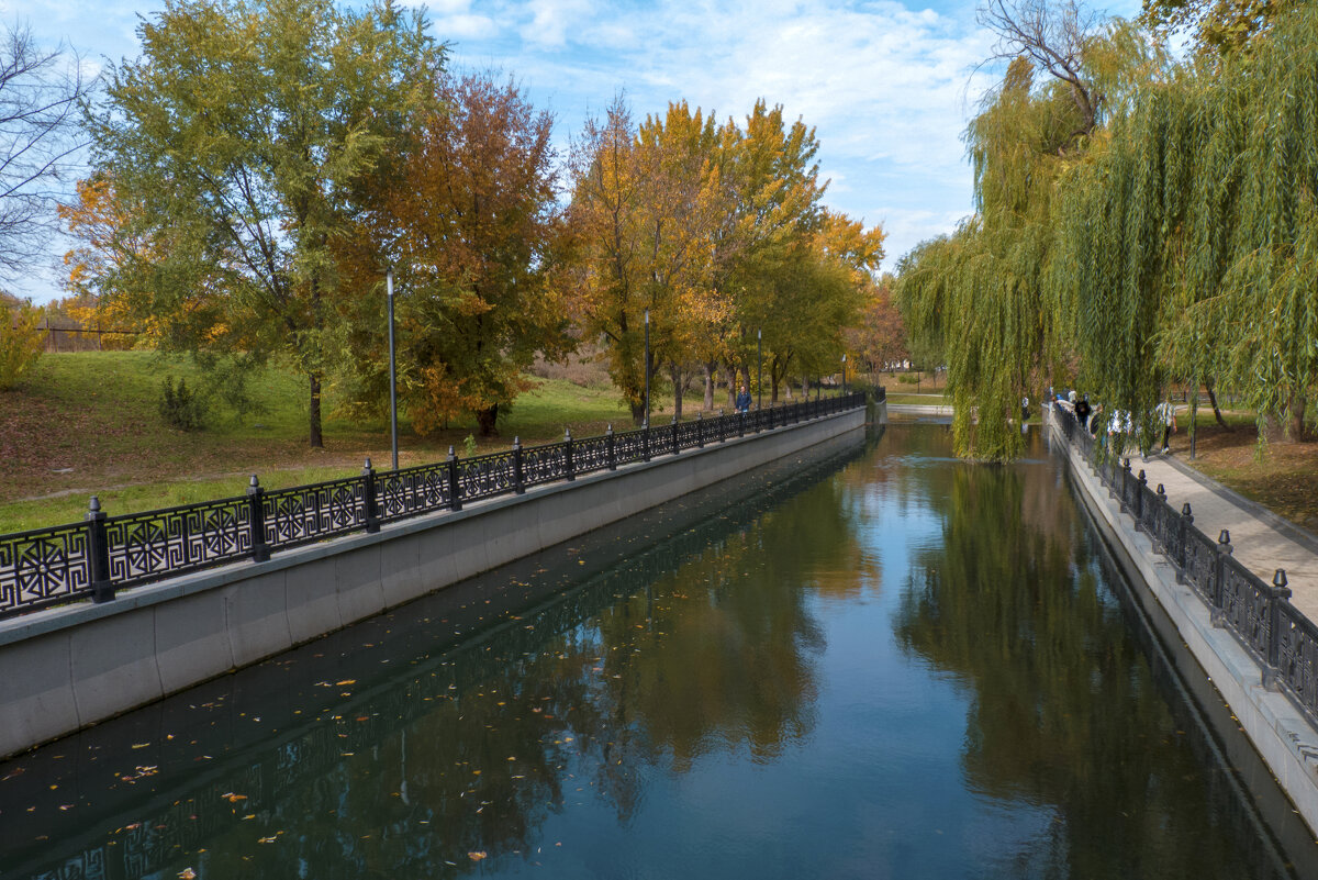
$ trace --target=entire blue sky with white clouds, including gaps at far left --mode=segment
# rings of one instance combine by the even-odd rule
[[[745,120],[757,99],[813,126],[829,208],[887,233],[883,270],[971,211],[961,134],[992,71],[975,0],[431,0],[449,63],[513,76],[569,140],[617,94],[633,116],[670,101]],[[90,72],[134,59],[137,26],[157,0],[0,0],[45,47],[75,50]],[[1133,14],[1133,0],[1111,0]],[[55,245],[53,254],[67,244]],[[57,260],[53,256],[51,262]],[[61,296],[53,265],[8,289]]]

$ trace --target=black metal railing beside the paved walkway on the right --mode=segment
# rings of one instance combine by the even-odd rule
[[[1272,584],[1264,581],[1232,556],[1228,530],[1217,540],[1201,532],[1189,502],[1176,510],[1162,486],[1149,489],[1143,470],[1131,473],[1130,458],[1118,461],[1095,451],[1094,437],[1073,412],[1061,407],[1053,412],[1066,439],[1094,462],[1122,511],[1176,566],[1177,580],[1209,606],[1214,626],[1244,646],[1261,667],[1265,685],[1285,693],[1318,723],[1318,626],[1290,603],[1285,569],[1276,569]]]

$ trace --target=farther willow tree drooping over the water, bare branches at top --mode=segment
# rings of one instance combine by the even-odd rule
[[[1099,28],[1075,4],[992,3],[982,18],[998,57],[1015,57],[966,130],[977,212],[903,261],[898,294],[915,340],[945,352],[958,454],[1003,460],[1021,448],[1020,398],[1070,377],[1075,311],[1098,307],[1053,281],[1060,199],[1165,62],[1127,22]]]

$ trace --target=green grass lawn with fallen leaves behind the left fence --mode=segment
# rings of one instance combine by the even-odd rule
[[[0,393],[0,534],[82,519],[90,495],[109,514],[169,507],[241,494],[256,473],[269,487],[295,486],[357,473],[366,457],[389,466],[389,423],[353,424],[324,400],[324,449],[307,447],[303,381],[270,370],[257,382],[264,411],[239,420],[216,411],[208,427],[183,432],[158,412],[161,382],[195,378],[186,364],[149,352],[46,354],[29,379]],[[190,383],[191,385],[191,383]],[[500,419],[498,437],[478,440],[477,453],[630,427],[612,387],[538,379]],[[399,464],[438,461],[453,445],[463,453],[471,424],[432,436],[399,422]]]

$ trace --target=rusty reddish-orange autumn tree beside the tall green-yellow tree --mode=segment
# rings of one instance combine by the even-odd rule
[[[399,162],[372,186],[361,233],[340,242],[352,286],[349,399],[387,400],[380,266],[398,286],[403,402],[427,432],[474,414],[482,435],[525,390],[536,353],[573,344],[561,285],[552,117],[490,72],[443,74]],[[382,250],[376,250],[376,242]]]

